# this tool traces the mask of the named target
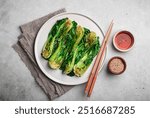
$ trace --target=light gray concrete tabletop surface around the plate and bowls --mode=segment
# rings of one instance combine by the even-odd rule
[[[114,19],[112,36],[126,29],[136,44],[130,52],[120,53],[110,42],[91,98],[84,96],[84,84],[55,100],[150,100],[149,0],[0,0],[0,100],[48,100],[11,46],[18,40],[19,25],[62,7],[88,15],[104,32]],[[127,61],[120,76],[106,71],[108,60],[116,55]]]

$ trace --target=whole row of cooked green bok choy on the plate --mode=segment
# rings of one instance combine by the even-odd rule
[[[42,57],[52,69],[67,75],[82,76],[100,49],[95,32],[68,18],[58,20],[48,34]]]

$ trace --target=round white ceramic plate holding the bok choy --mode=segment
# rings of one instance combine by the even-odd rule
[[[34,53],[35,53],[35,58],[36,58],[38,66],[40,67],[41,71],[49,79],[57,83],[64,84],[64,85],[77,85],[77,84],[82,84],[82,83],[87,82],[88,76],[90,74],[90,71],[92,69],[95,59],[93,60],[92,64],[90,65],[90,67],[84,73],[82,77],[76,77],[76,76],[70,77],[68,75],[63,74],[62,71],[59,69],[58,70],[50,69],[48,67],[47,60],[41,57],[41,50],[45,41],[47,40],[47,36],[48,36],[50,29],[56,23],[57,20],[60,20],[66,17],[68,17],[71,20],[75,20],[81,26],[86,27],[90,29],[91,31],[96,32],[96,34],[100,37],[100,42],[102,42],[103,37],[104,37],[103,32],[101,28],[92,19],[88,18],[87,16],[77,14],[77,13],[63,13],[63,14],[59,14],[57,16],[52,17],[41,27],[35,40]],[[104,63],[105,57],[106,57],[106,53],[103,59],[103,63]],[[102,66],[101,66],[101,69],[102,69]]]

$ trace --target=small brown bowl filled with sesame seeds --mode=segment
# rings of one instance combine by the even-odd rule
[[[125,71],[125,69],[126,69],[126,62],[121,57],[113,57],[108,62],[108,70],[112,74],[119,75],[119,74],[123,73]]]

